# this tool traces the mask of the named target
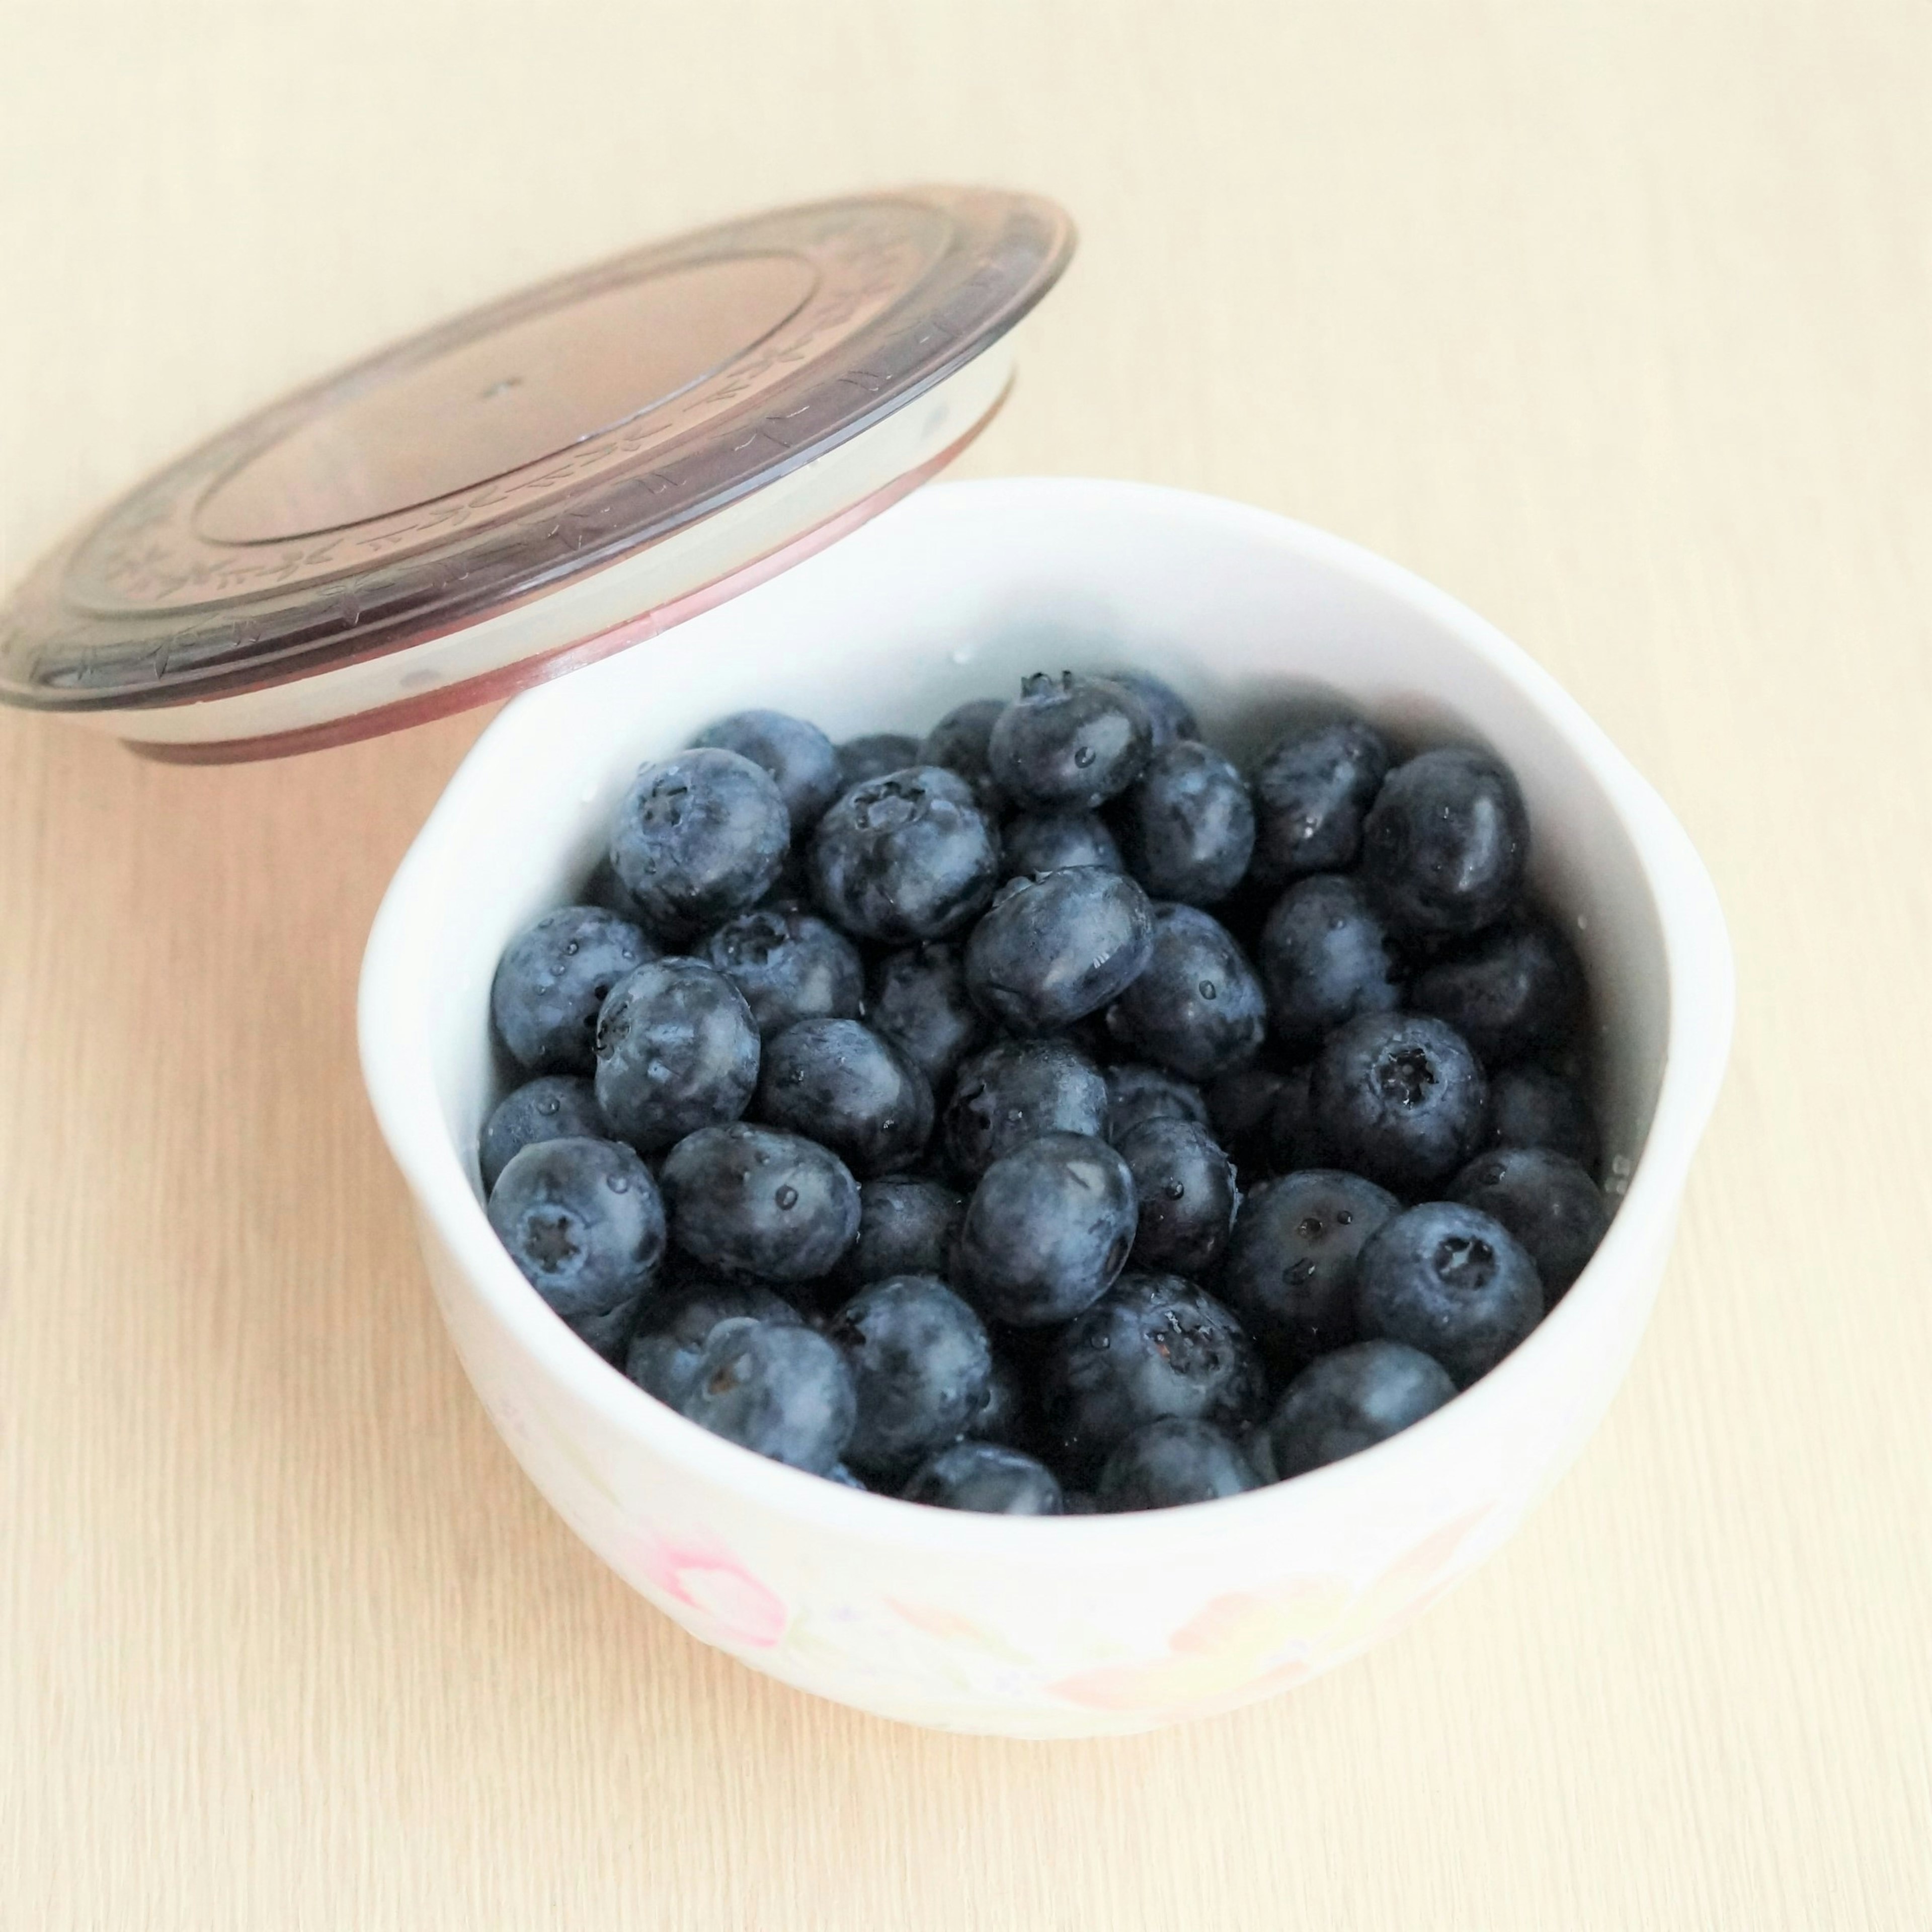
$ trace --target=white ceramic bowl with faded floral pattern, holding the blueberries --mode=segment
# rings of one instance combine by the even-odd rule
[[[1488,742],[1600,1016],[1627,1192],[1534,1335],[1447,1408],[1289,1484],[1134,1517],[922,1509],[804,1476],[659,1406],[529,1291],[477,1192],[504,941],[589,871],[638,763],[777,705],[833,738],[925,728],[1022,672],[1132,661],[1236,752],[1310,686],[1416,740]],[[1528,657],[1406,572],[1260,510],[1122,483],[922,491],[665,638],[512,703],[383,902],[369,1094],[437,1300],[504,1441],[620,1577],[823,1696],[1026,1737],[1267,1696],[1393,1631],[1493,1549],[1596,1428],[1644,1327],[1731,1036],[1710,879],[1656,792]]]

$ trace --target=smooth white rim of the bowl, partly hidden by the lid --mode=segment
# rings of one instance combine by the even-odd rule
[[[711,1435],[655,1401],[551,1314],[497,1240],[460,1151],[444,1132],[425,1039],[408,1024],[410,962],[425,954],[431,939],[427,908],[437,902],[437,895],[419,891],[419,883],[462,848],[473,811],[500,796],[495,775],[514,765],[524,734],[541,726],[547,705],[554,701],[547,688],[506,705],[464,755],[398,864],[371,925],[357,991],[357,1037],[363,1080],[390,1157],[413,1196],[415,1211],[433,1223],[473,1293],[543,1374],[585,1403],[607,1428],[661,1457],[667,1468],[734,1492],[744,1503],[781,1515],[802,1530],[1053,1567],[1076,1551],[1088,1557],[1173,1553],[1190,1542],[1219,1544],[1244,1532],[1265,1534],[1269,1517],[1289,1517],[1320,1493],[1399,1480],[1405,1459],[1416,1468],[1418,1488],[1428,1488],[1426,1470],[1439,1453],[1453,1439],[1488,1434],[1577,1323],[1619,1293],[1644,1293],[1642,1269],[1625,1271],[1619,1262],[1625,1254],[1634,1258],[1656,1223],[1673,1215],[1716,1105],[1731,1043],[1735,966],[1710,873],[1658,792],[1542,665],[1447,591],[1343,537],[1254,504],[1165,485],[993,477],[927,485],[881,518],[869,541],[883,541],[889,529],[920,516],[987,514],[1001,508],[1001,498],[1012,498],[1012,506],[1028,518],[1055,510],[1065,514],[1074,504],[1084,514],[1117,504],[1138,514],[1155,510],[1163,518],[1208,520],[1287,547],[1323,570],[1406,603],[1530,701],[1615,813],[1650,891],[1663,943],[1663,1070],[1650,1130],[1609,1231],[1584,1273],[1530,1337],[1455,1401],[1358,1455],[1219,1501],[1132,1515],[995,1517],[848,1490]]]

